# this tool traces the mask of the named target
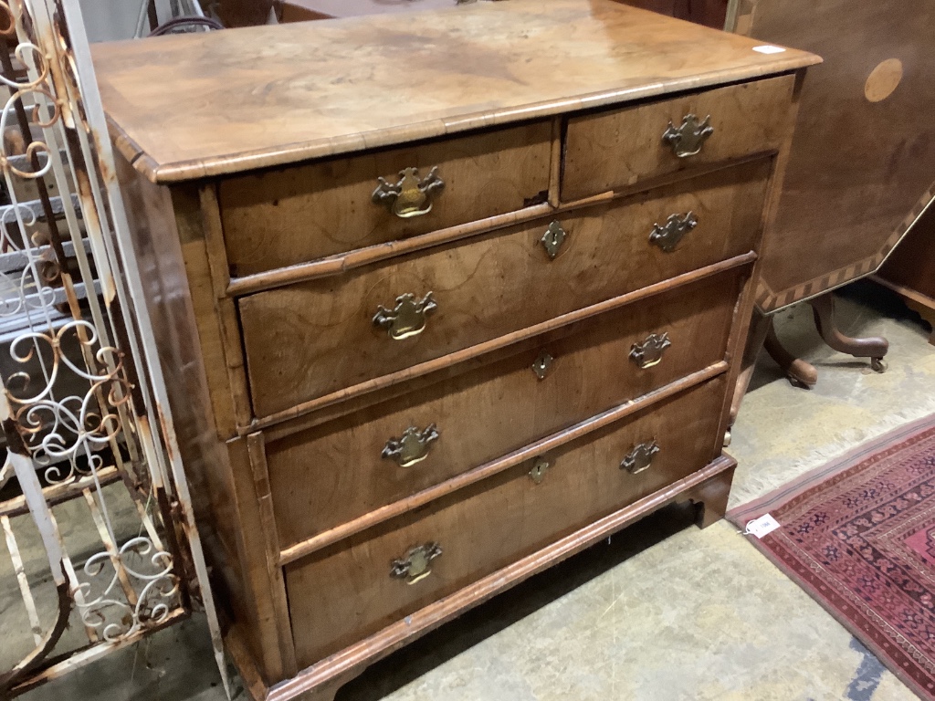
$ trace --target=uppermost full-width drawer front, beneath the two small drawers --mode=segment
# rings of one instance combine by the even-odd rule
[[[546,220],[245,297],[254,410],[269,416],[749,251],[770,167],[745,164],[559,216],[554,259],[542,243]],[[689,212],[693,230],[656,231]],[[404,294],[409,301],[396,302]],[[406,322],[423,302],[411,324],[380,325],[395,305]],[[391,336],[421,324],[417,334]]]

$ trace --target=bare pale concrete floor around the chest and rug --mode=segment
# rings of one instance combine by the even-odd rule
[[[827,349],[807,308],[781,314],[780,336],[821,378],[798,390],[762,359],[730,449],[740,461],[732,504],[935,412],[928,330],[870,283],[846,294],[842,330],[886,336],[889,370]],[[374,665],[338,699],[914,698],[745,536],[726,522],[699,531],[691,517],[678,506],[649,517]],[[196,617],[23,698],[222,701],[223,692]]]

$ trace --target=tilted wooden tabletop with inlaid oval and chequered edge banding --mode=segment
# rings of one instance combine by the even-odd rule
[[[734,24],[825,59],[764,242],[757,306],[772,311],[876,271],[935,196],[935,3],[741,0]]]

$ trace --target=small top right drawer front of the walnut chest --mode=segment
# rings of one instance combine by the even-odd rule
[[[778,150],[794,126],[794,85],[795,77],[782,76],[569,119],[562,200],[573,202],[686,167]],[[710,116],[706,126],[712,131],[686,122],[691,114],[701,122]],[[664,139],[667,134],[671,136]]]

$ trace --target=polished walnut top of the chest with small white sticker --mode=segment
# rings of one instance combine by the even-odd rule
[[[819,62],[761,44],[611,0],[508,0],[116,42],[94,65],[122,155],[173,182]]]

